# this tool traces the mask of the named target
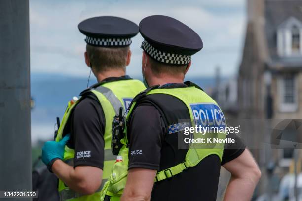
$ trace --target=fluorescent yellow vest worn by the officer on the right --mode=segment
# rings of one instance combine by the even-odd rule
[[[202,105],[208,105],[212,106],[213,110],[220,110],[218,104],[213,100],[210,96],[208,96],[205,92],[202,90],[196,88],[195,86],[190,87],[184,87],[184,88],[159,88],[159,89],[147,89],[145,91],[145,95],[151,95],[151,94],[168,94],[171,96],[174,96],[175,98],[181,100],[188,108],[189,114],[190,114],[190,126],[200,125],[200,119],[196,118],[196,108],[198,108],[198,105],[202,107]],[[137,97],[144,97],[144,93],[139,94]],[[137,101],[138,98],[135,98],[134,100]],[[127,180],[127,171],[128,171],[128,139],[127,139],[127,126],[129,126],[129,117],[131,116],[134,108],[136,108],[136,103],[133,102],[131,104],[131,107],[129,109],[127,118],[126,118],[126,128],[124,129],[125,137],[121,139],[121,143],[123,144],[123,147],[120,149],[119,154],[122,156],[123,161],[117,162],[113,165],[111,175],[108,179],[108,181],[105,183],[103,189],[102,189],[102,197],[101,201],[104,200],[106,196],[110,196],[110,201],[119,201],[120,196],[123,193],[126,180]],[[215,112],[215,111],[214,111]],[[217,114],[217,112],[216,112]],[[215,114],[215,115],[216,115]],[[222,115],[222,112],[219,114]],[[223,117],[224,118],[224,117]],[[199,122],[198,122],[199,121]],[[207,125],[203,125],[207,126]],[[224,124],[226,126],[226,124]],[[167,128],[168,131],[168,128]],[[196,134],[194,133],[194,138],[197,137],[209,137],[210,134]],[[215,135],[219,139],[225,139],[226,134],[224,133],[216,133]],[[222,160],[223,151],[224,151],[224,142],[223,143],[211,143],[211,144],[204,144],[204,146],[201,148],[200,146],[196,146],[194,144],[191,144],[188,152],[186,154],[186,157],[184,159],[183,163],[180,163],[174,167],[167,168],[165,170],[159,171],[156,174],[154,182],[162,181],[167,178],[170,178],[174,175],[180,174],[183,170],[196,166],[200,161],[202,161],[205,157],[209,155],[217,155],[220,158],[220,161]],[[192,178],[194,179],[194,178]]]

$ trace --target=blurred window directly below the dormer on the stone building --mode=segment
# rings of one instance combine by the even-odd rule
[[[279,80],[280,111],[295,112],[297,110],[297,85],[293,74],[286,74]]]

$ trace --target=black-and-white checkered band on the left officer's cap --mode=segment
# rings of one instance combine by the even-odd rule
[[[85,42],[89,45],[96,46],[122,47],[130,45],[132,40],[131,38],[94,38],[86,36]]]

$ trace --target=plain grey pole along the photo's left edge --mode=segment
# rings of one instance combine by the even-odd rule
[[[32,189],[29,47],[29,0],[0,0],[0,190]]]

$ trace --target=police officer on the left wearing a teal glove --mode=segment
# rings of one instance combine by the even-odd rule
[[[59,178],[61,200],[99,201],[116,157],[111,153],[112,119],[145,89],[125,75],[131,38],[138,26],[119,17],[94,17],[78,25],[86,35],[85,62],[98,83],[69,102],[55,141],[42,149],[42,160]]]

